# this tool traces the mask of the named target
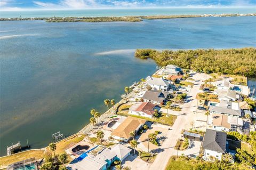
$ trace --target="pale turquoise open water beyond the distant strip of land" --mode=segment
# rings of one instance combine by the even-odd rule
[[[15,17],[103,17],[103,16],[139,16],[174,14],[222,14],[255,13],[255,7],[207,7],[207,8],[155,8],[155,9],[87,9],[87,10],[37,10],[37,11],[0,11],[0,18]]]

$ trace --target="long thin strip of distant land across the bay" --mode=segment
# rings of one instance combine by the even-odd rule
[[[46,22],[141,22],[144,19],[175,19],[175,18],[203,18],[203,17],[249,17],[249,14],[203,14],[203,15],[145,15],[129,17],[31,17],[31,18],[0,18],[0,21],[31,21],[44,20]]]

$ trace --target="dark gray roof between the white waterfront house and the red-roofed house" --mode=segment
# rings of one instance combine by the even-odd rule
[[[154,90],[146,91],[145,94],[142,96],[142,99],[152,100],[156,102],[163,102],[167,97],[168,93],[166,92],[159,92]]]

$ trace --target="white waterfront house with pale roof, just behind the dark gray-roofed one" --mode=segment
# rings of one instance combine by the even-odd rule
[[[145,86],[150,86],[151,90],[167,91],[170,87],[171,82],[164,79],[163,77],[156,78],[148,76],[146,78]]]

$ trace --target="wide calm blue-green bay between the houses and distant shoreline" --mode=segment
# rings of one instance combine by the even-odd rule
[[[124,86],[153,74],[156,64],[135,48],[256,46],[256,17],[187,18],[143,22],[0,22],[1,155],[26,139],[45,147],[52,133],[73,134],[90,110],[106,111]]]

